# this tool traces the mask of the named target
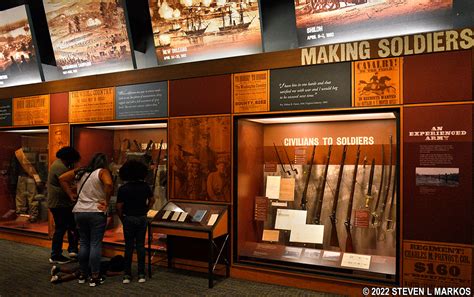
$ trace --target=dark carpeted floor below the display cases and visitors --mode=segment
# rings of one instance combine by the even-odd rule
[[[122,284],[120,276],[107,278],[91,288],[70,281],[53,285],[49,250],[0,240],[0,296],[335,296],[295,288],[222,279],[208,289],[207,275],[154,267],[152,279]],[[136,265],[134,265],[136,266]]]

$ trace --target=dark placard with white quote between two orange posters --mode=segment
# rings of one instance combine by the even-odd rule
[[[350,63],[272,70],[270,110],[350,107],[350,73]]]

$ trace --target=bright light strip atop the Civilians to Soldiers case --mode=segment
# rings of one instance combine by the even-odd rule
[[[313,123],[313,122],[336,122],[336,121],[364,121],[364,120],[386,120],[395,119],[393,112],[384,113],[357,113],[341,115],[314,115],[298,117],[278,117],[249,119],[249,121],[260,124],[290,124],[290,123]]]

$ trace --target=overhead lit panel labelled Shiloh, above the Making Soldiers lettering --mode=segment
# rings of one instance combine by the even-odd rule
[[[459,15],[453,0],[295,0],[295,12],[300,47],[451,29]]]

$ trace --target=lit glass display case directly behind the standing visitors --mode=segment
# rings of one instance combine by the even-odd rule
[[[87,166],[95,153],[105,153],[109,158],[114,192],[109,204],[104,242],[124,244],[123,228],[116,212],[116,195],[123,184],[119,169],[126,160],[143,161],[149,167],[146,182],[155,197],[152,209],[160,210],[167,201],[167,123],[77,125],[73,126],[72,133],[73,146],[81,154],[77,166]],[[154,248],[163,249],[164,246],[158,243]]]

